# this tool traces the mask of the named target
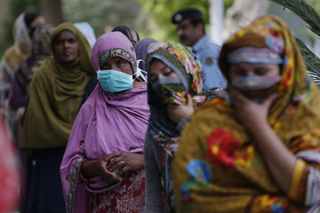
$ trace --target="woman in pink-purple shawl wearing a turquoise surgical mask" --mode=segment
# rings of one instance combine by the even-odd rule
[[[91,61],[99,83],[79,111],[60,167],[67,212],[143,212],[146,83],[120,32],[100,36]]]

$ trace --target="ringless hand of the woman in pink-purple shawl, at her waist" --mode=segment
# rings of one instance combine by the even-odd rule
[[[107,156],[100,157],[97,160],[88,161],[85,164],[83,164],[81,168],[81,174],[84,178],[93,178],[96,176],[100,176],[101,179],[108,183],[115,183],[117,181],[121,181],[121,177],[116,177],[115,174],[108,171],[107,164],[108,161],[106,161]]]

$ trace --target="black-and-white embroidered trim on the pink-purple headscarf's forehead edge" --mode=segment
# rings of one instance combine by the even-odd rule
[[[127,50],[122,48],[111,48],[107,49],[106,51],[102,52],[99,55],[99,67],[101,69],[101,65],[103,65],[106,61],[108,61],[109,58],[112,57],[122,57],[123,59],[129,61],[132,65],[133,73],[137,70],[137,62],[134,59],[134,57],[129,53]]]

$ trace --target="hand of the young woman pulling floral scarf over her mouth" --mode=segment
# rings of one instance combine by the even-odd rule
[[[192,115],[194,113],[193,101],[191,95],[188,95],[188,105],[168,104],[167,110],[169,112],[170,119],[179,123],[182,119]]]

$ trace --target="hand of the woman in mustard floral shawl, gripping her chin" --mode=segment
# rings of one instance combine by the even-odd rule
[[[255,103],[241,92],[233,89],[231,100],[236,111],[236,117],[251,132],[258,125],[268,123],[269,108],[276,98],[276,94],[270,95],[263,103]]]

